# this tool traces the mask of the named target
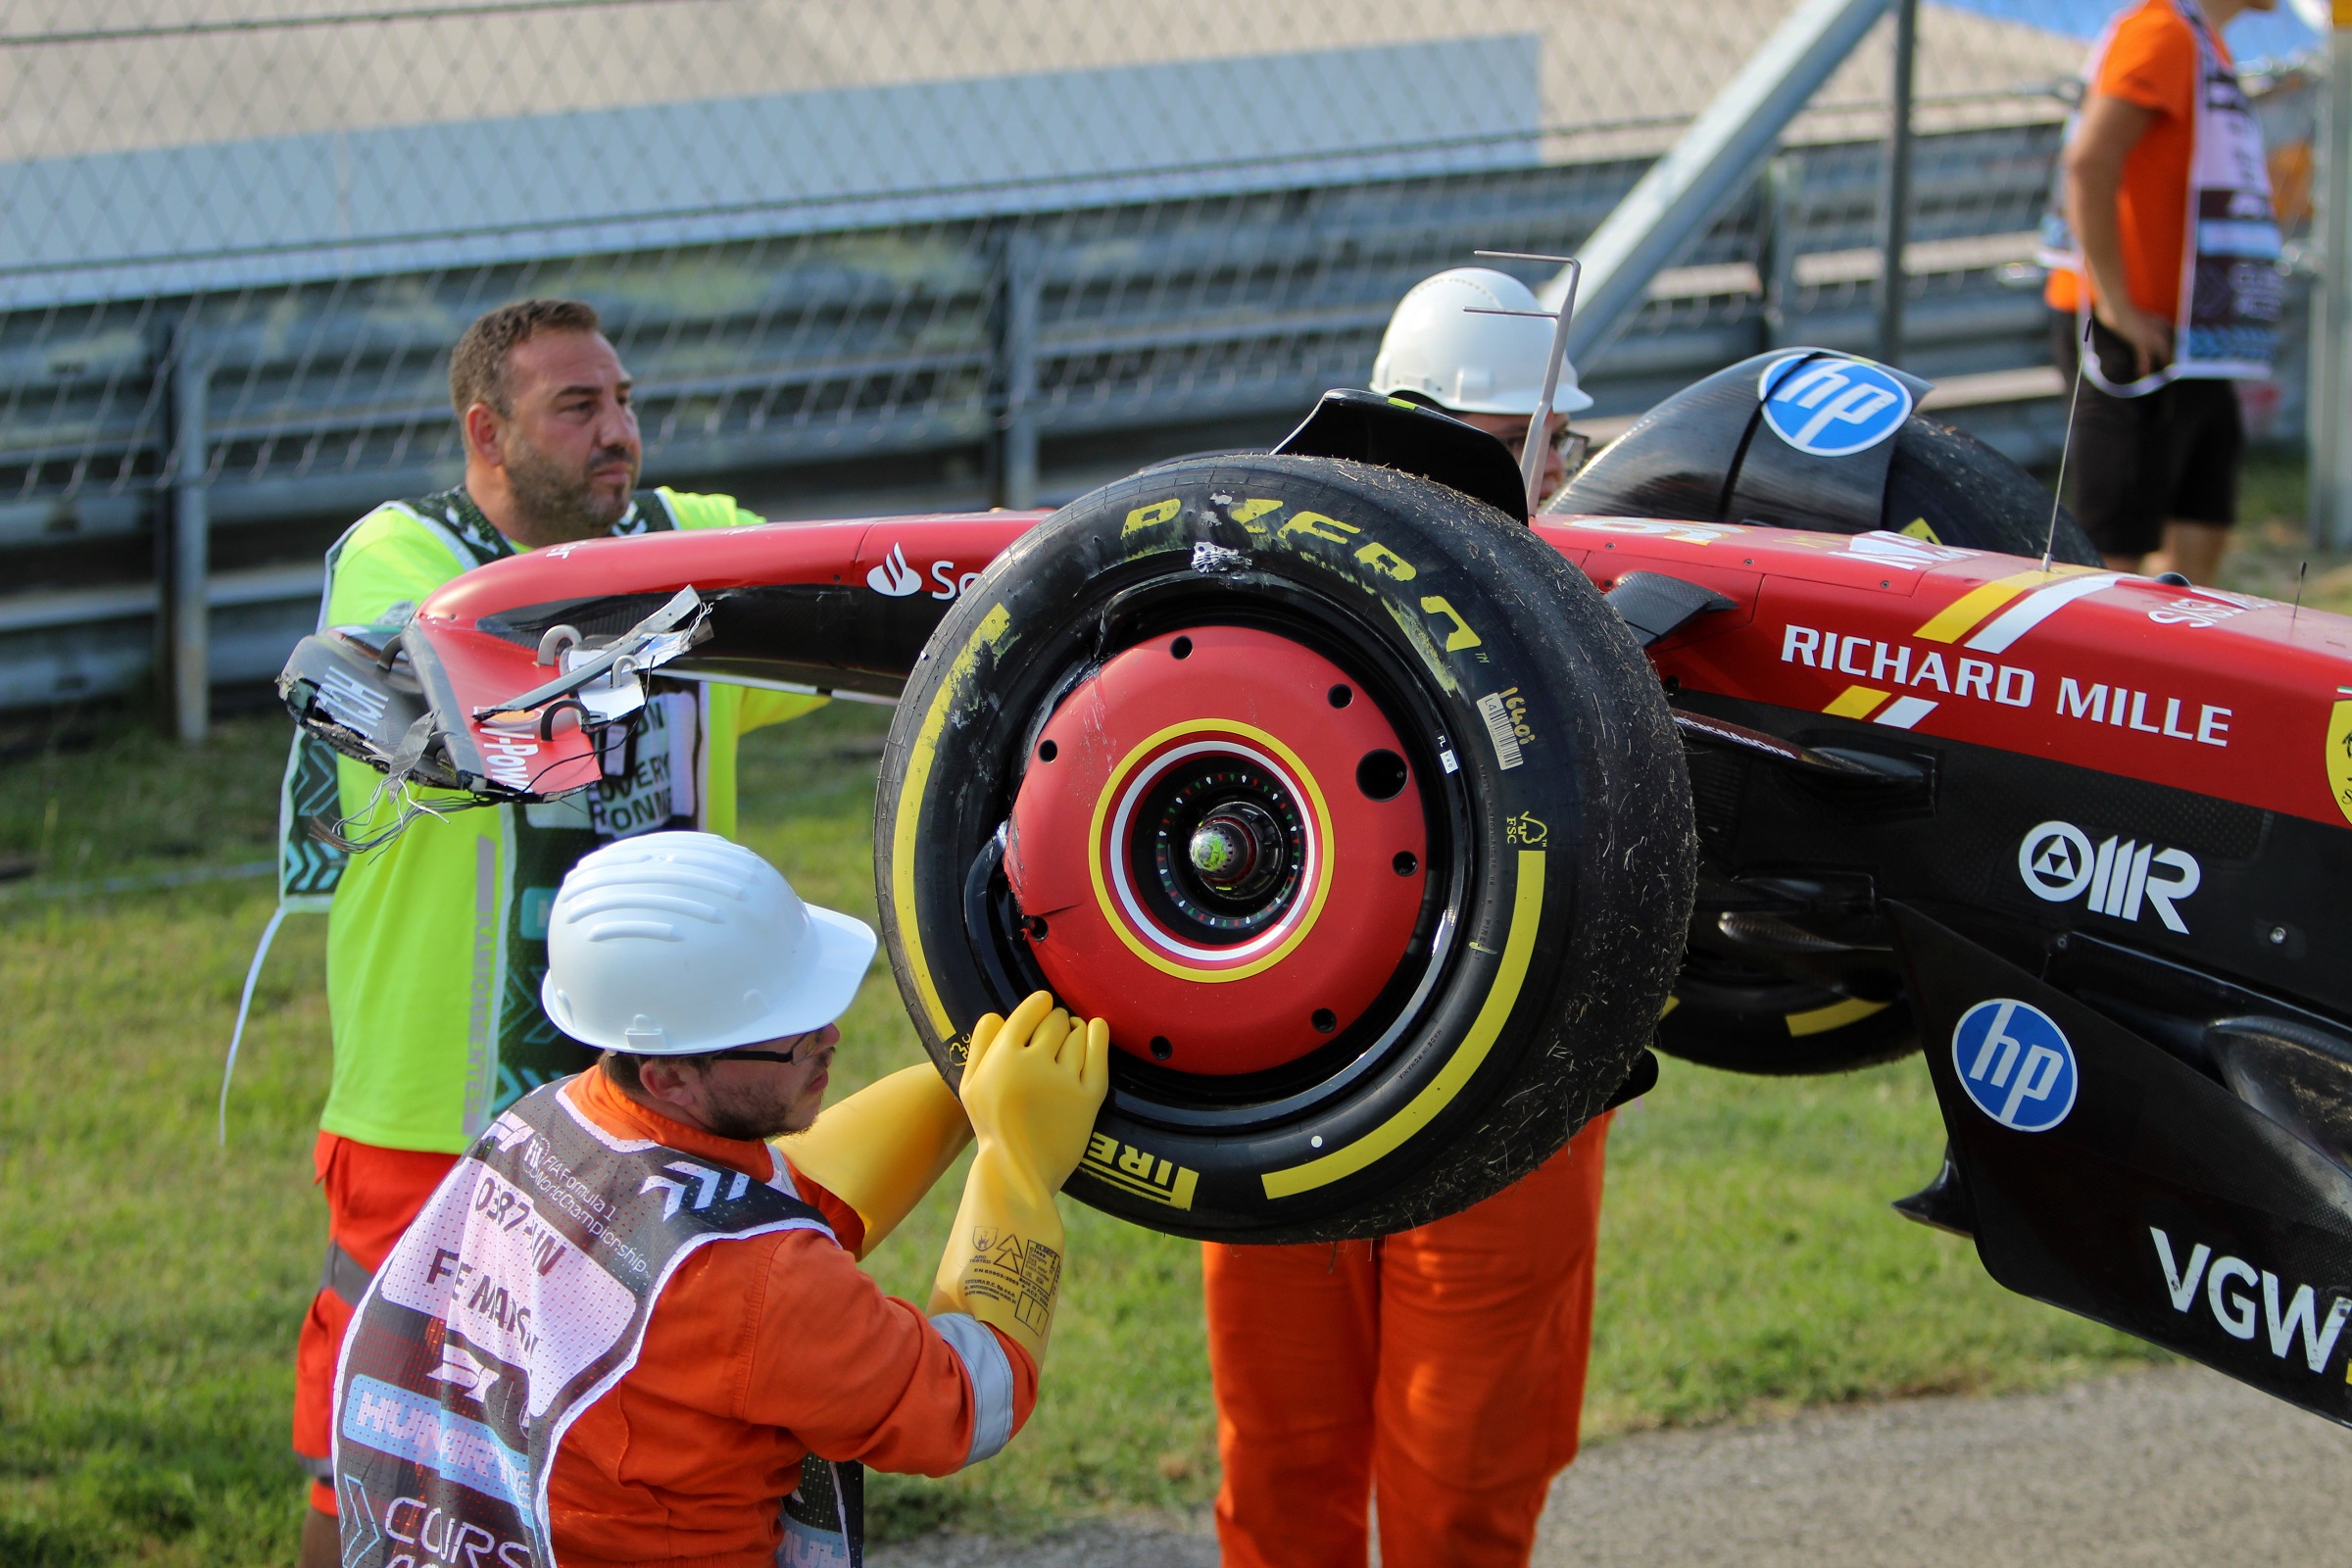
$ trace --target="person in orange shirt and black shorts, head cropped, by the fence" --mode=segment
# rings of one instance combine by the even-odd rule
[[[2260,127],[2220,31],[2274,5],[2143,0],[2084,73],[2044,299],[2058,367],[2086,381],[2070,498],[2122,571],[2211,583],[2237,522],[2230,381],[2270,371],[2281,287]]]

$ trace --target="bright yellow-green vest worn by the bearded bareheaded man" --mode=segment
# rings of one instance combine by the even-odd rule
[[[762,522],[731,496],[637,491],[616,536]],[[393,501],[327,552],[320,630],[405,614],[449,578],[515,555],[463,487]],[[461,1152],[492,1117],[590,1053],[539,1006],[548,910],[564,872],[616,837],[656,827],[734,835],[736,736],[823,698],[649,679],[626,773],[539,804],[470,806],[416,790],[419,816],[346,856],[313,827],[362,842],[397,816],[381,776],[296,736],[280,795],[280,914],[327,910],[334,1084],[320,1126],[393,1150]]]

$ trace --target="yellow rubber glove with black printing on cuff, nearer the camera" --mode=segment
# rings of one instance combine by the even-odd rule
[[[971,1034],[978,1041],[981,1030]],[[1047,992],[1033,992],[990,1030],[985,1056],[964,1067],[978,1152],[938,1260],[931,1312],[969,1312],[1040,1366],[1065,1246],[1054,1194],[1077,1171],[1108,1086],[1110,1025],[1096,1018],[1073,1027]]]

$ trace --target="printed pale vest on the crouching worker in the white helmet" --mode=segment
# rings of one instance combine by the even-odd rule
[[[508,1107],[393,1248],[334,1373],[341,1568],[553,1568],[564,1432],[644,1342],[663,1286],[710,1241],[826,1215],[771,1182],[581,1117],[560,1084]],[[863,1469],[802,1460],[779,1563],[854,1568]]]

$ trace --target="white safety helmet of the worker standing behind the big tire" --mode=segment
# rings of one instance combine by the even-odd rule
[[[1451,414],[1534,414],[1543,400],[1543,369],[1552,357],[1552,324],[1524,315],[1479,310],[1541,310],[1536,294],[1508,273],[1458,266],[1423,277],[1397,303],[1371,362],[1371,390],[1414,393]],[[1552,390],[1557,414],[1590,409],[1576,367],[1559,367]]]

